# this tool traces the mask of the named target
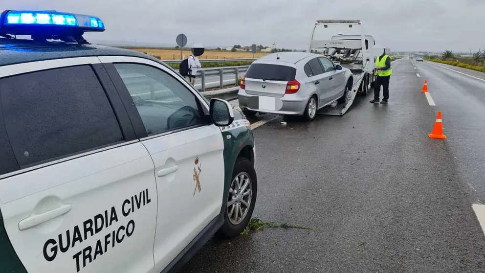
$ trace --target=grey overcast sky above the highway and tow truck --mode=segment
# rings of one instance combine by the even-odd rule
[[[88,35],[97,41],[175,45],[185,33],[189,45],[305,49],[315,20],[359,19],[391,50],[485,47],[485,0],[0,0],[0,6],[98,16],[107,30]]]

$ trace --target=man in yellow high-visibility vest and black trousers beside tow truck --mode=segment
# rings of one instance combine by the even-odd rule
[[[393,69],[391,68],[391,57],[386,55],[386,49],[383,49],[382,55],[375,58],[375,83],[374,83],[374,99],[371,103],[379,103],[380,87],[384,89],[384,98],[380,103],[387,104],[389,99],[389,80],[393,74]]]

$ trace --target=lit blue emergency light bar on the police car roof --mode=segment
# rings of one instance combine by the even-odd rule
[[[83,31],[104,31],[105,25],[98,17],[57,11],[6,10],[0,16],[0,32],[15,30],[16,26],[77,28]],[[24,32],[24,30],[23,30]],[[8,33],[19,34],[19,33]],[[23,34],[23,33],[22,33]]]

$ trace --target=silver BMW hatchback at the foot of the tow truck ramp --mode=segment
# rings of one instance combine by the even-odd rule
[[[352,72],[325,56],[280,52],[256,60],[247,69],[238,92],[246,115],[303,115],[311,121],[317,110],[335,100],[345,103]]]

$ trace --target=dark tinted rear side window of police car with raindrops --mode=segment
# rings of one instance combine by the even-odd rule
[[[21,167],[123,141],[90,66],[0,79],[5,130]]]

